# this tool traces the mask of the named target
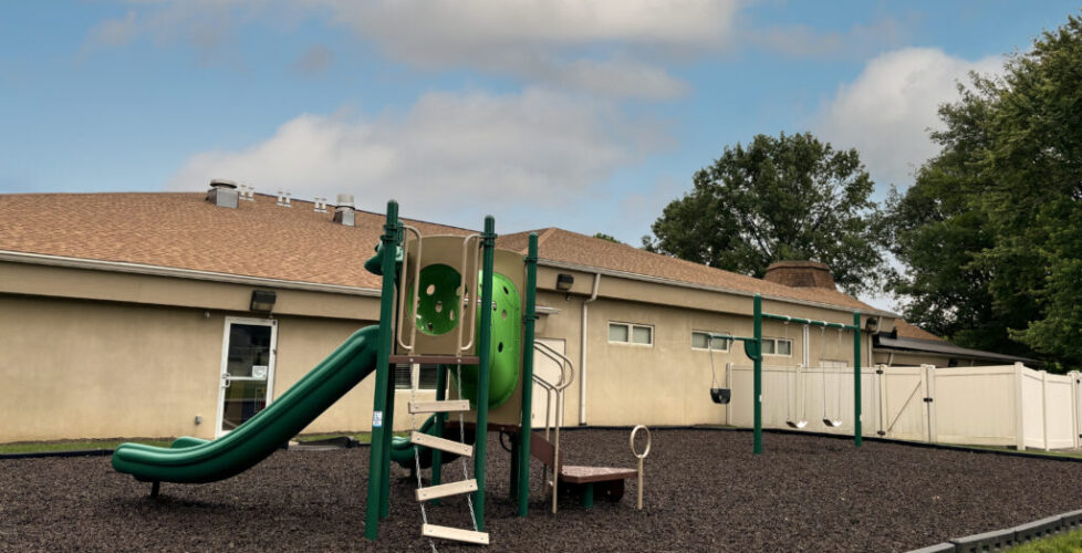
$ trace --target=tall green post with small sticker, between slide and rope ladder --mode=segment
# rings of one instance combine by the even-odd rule
[[[383,288],[379,294],[379,351],[376,354],[376,389],[372,405],[372,448],[368,453],[368,497],[364,513],[364,536],[376,540],[379,536],[379,509],[387,486],[383,476],[391,463],[391,450],[383,439],[385,427],[383,414],[386,410],[387,383],[391,379],[391,347],[394,341],[395,312],[395,254],[398,247],[398,202],[387,202],[387,222],[379,237],[383,252],[379,268],[383,273]]]

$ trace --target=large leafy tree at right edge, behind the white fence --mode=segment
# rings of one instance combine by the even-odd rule
[[[892,289],[960,345],[1082,365],[1082,19],[939,115],[938,156],[889,201]]]

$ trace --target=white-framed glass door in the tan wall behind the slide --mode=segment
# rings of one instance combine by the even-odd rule
[[[223,436],[261,411],[274,389],[278,321],[226,317],[215,436]]]

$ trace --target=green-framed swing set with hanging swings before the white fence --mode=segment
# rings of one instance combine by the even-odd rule
[[[728,341],[728,343],[729,343],[730,346],[731,346],[732,342],[735,342],[735,341],[743,342],[743,353],[752,362],[752,366],[753,366],[753,373],[752,373],[753,374],[753,384],[752,384],[752,388],[753,388],[752,389],[752,395],[753,395],[753,397],[752,397],[752,401],[753,401],[753,411],[755,411],[755,444],[753,444],[753,452],[755,452],[755,455],[762,453],[762,321],[763,320],[781,321],[782,324],[786,325],[786,336],[787,337],[789,335],[788,334],[789,333],[789,326],[788,326],[789,323],[797,323],[797,324],[802,324],[802,325],[805,325],[805,326],[819,326],[820,327],[820,332],[821,332],[820,362],[822,362],[822,355],[823,355],[822,354],[822,351],[823,351],[823,348],[826,345],[826,328],[836,328],[837,330],[839,352],[841,352],[841,348],[842,348],[842,332],[844,332],[844,331],[851,331],[853,333],[853,359],[854,359],[854,363],[853,363],[853,444],[856,447],[861,447],[861,445],[863,442],[862,435],[861,435],[861,432],[862,432],[862,427],[861,427],[861,312],[860,311],[854,311],[853,312],[853,324],[831,323],[831,322],[826,322],[826,321],[814,321],[814,320],[800,319],[800,317],[794,317],[794,316],[789,316],[789,315],[777,315],[777,314],[773,314],[773,313],[763,313],[762,312],[762,296],[760,294],[756,294],[756,296],[755,296],[755,314],[753,314],[753,317],[755,317],[753,319],[753,332],[755,332],[755,334],[752,336],[750,336],[750,337],[749,336],[734,336],[734,335],[730,335],[730,334],[714,334],[714,333],[711,333],[709,335],[709,340],[708,340],[707,344],[708,344],[708,347],[709,347],[709,344],[710,344],[709,341],[712,341],[712,340],[725,340],[725,341]],[[822,363],[820,363],[820,365],[822,365]],[[727,403],[729,403],[729,399],[731,397],[732,390],[729,389],[729,388],[719,388],[719,387],[717,387],[717,375],[714,373],[714,351],[712,351],[712,347],[711,347],[711,351],[710,351],[710,371],[711,371],[711,374],[714,375],[714,379],[711,380],[711,387],[710,387],[710,398],[716,404],[727,404]],[[794,383],[794,386],[797,386],[797,387],[800,387],[801,386],[801,384],[802,384],[802,378],[801,377],[802,377],[801,367],[798,366],[797,367],[795,375],[794,375],[794,378],[797,380]],[[834,415],[837,416],[837,417],[835,418],[835,417],[831,417],[830,414],[828,413],[828,409],[826,409],[826,404],[828,404],[828,401],[826,401],[826,372],[825,372],[825,369],[823,371],[823,424],[826,425],[826,426],[829,426],[829,427],[831,427],[831,428],[837,428],[837,427],[842,426],[842,420],[841,420],[841,417],[840,417],[840,414],[841,414],[841,401],[842,401],[842,399],[841,399],[841,397],[842,397],[842,394],[841,394],[841,392],[842,392],[842,389],[841,389],[842,388],[842,377],[839,374],[839,375],[836,375],[836,378],[837,378],[837,393],[834,395],[834,401],[835,401]],[[803,388],[802,387],[800,387],[800,389],[801,389],[801,392],[803,392]],[[801,418],[800,419],[795,419],[792,416],[792,401],[791,401],[792,395],[789,394],[789,392],[790,392],[790,385],[789,385],[789,379],[788,378],[786,380],[786,392],[787,392],[787,401],[789,404],[789,405],[787,405],[786,424],[788,426],[790,426],[791,428],[803,428],[803,427],[805,427],[808,425],[808,420],[804,417],[804,415],[807,415],[807,413],[804,410],[804,408],[807,406],[803,405],[803,400],[801,401],[801,406],[798,407],[798,410],[801,410]],[[803,394],[801,394],[800,397],[801,397],[801,399],[803,399]]]

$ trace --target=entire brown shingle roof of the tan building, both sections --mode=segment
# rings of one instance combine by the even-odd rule
[[[378,278],[363,265],[384,216],[357,211],[351,228],[312,207],[302,200],[280,207],[264,195],[237,209],[214,206],[204,192],[0,195],[0,250],[377,289]],[[472,232],[406,222],[425,234]],[[528,234],[498,243],[524,253]],[[544,260],[877,311],[834,290],[790,288],[558,228],[538,234]]]

